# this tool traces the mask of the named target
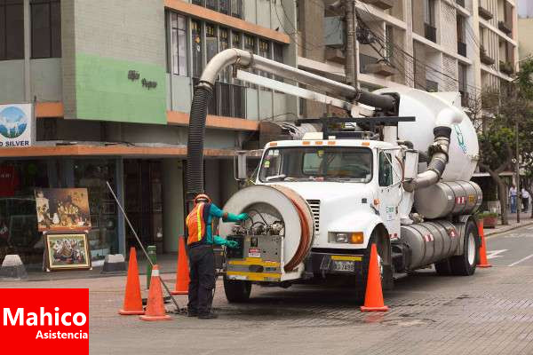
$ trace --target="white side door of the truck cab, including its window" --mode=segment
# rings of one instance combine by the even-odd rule
[[[398,205],[402,200],[402,168],[395,154],[395,150],[383,150],[379,151],[378,157],[378,210],[393,239],[400,235]]]

